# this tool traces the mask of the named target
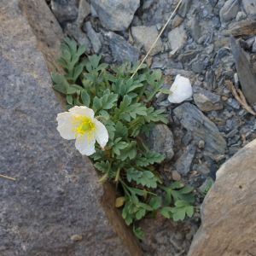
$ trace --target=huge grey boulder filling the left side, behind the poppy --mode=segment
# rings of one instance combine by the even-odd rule
[[[0,2],[0,255],[142,255],[110,183],[56,131],[61,27],[45,1]]]

